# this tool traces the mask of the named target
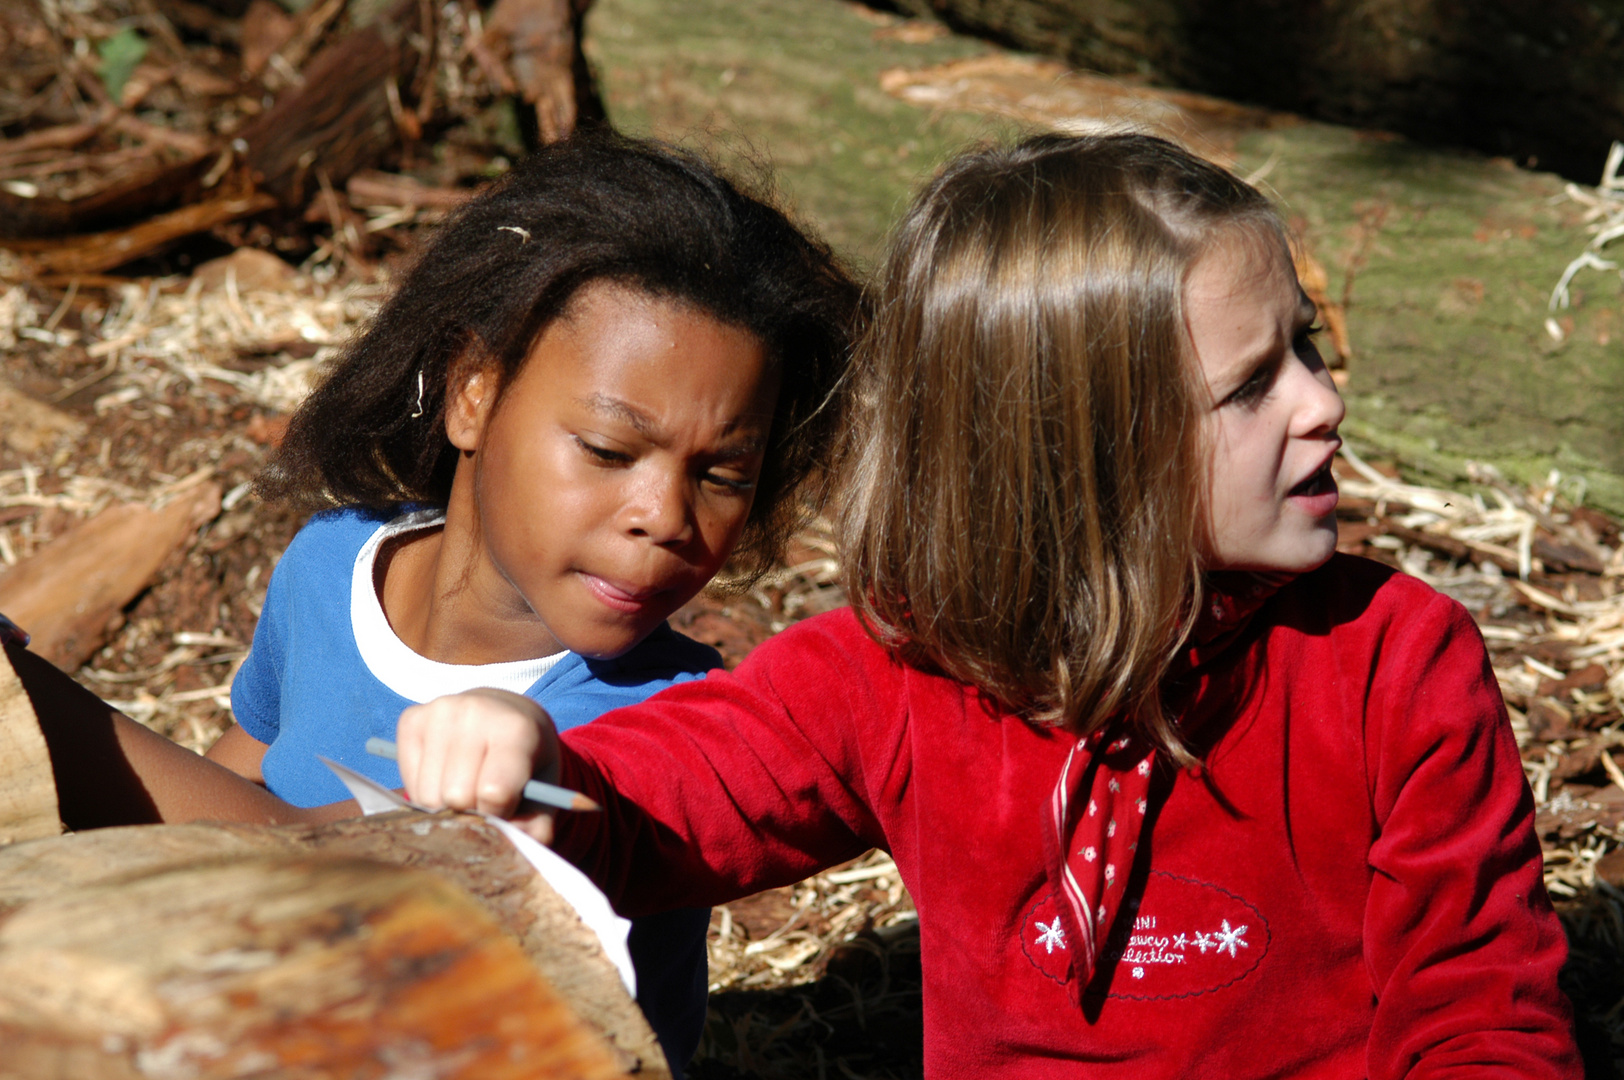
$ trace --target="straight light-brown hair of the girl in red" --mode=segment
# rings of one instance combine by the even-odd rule
[[[840,533],[905,661],[1033,723],[1125,716],[1189,760],[1161,684],[1200,603],[1205,390],[1184,284],[1254,188],[1143,135],[960,156],[874,286]]]

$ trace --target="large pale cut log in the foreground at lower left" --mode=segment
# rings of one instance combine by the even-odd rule
[[[575,909],[482,819],[55,836],[0,651],[0,1080],[669,1077]]]

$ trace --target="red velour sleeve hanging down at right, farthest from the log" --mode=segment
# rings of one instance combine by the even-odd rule
[[[1483,638],[1429,594],[1389,627],[1366,736],[1371,1080],[1582,1077],[1533,796]]]

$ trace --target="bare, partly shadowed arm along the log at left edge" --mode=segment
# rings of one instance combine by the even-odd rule
[[[354,817],[354,802],[300,809],[148,731],[18,645],[5,656],[50,750],[58,814],[71,830],[195,820],[287,825]]]

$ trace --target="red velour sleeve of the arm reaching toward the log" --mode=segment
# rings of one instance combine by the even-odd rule
[[[624,914],[706,906],[885,846],[906,788],[905,676],[846,612],[564,736],[562,783],[603,804],[555,849]]]

